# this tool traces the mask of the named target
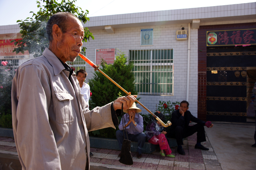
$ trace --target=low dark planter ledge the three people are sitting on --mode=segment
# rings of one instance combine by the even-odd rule
[[[176,139],[174,138],[167,138],[167,139],[170,147],[178,146]],[[110,139],[110,138],[90,137],[90,147],[120,151],[117,139]],[[138,147],[137,142],[131,142],[131,152],[136,152],[137,147]],[[155,144],[150,144],[149,142],[145,142],[142,148],[142,153],[152,153],[156,150],[156,148],[159,148],[159,146]]]

